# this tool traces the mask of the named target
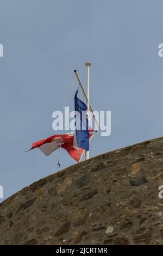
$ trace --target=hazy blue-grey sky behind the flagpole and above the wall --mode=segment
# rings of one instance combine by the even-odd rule
[[[66,105],[74,69],[85,84],[86,61],[91,104],[111,111],[111,136],[97,135],[96,155],[163,135],[162,10],[161,0],[0,0],[4,198],[56,172],[58,152],[24,151],[55,134],[52,112]],[[64,150],[60,161],[75,163]]]

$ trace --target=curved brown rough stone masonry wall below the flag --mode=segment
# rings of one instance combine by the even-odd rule
[[[96,156],[0,204],[1,245],[163,245],[163,137]]]

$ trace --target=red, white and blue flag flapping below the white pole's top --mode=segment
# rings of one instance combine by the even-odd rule
[[[55,150],[64,148],[74,160],[80,162],[84,150],[89,150],[89,141],[94,133],[93,129],[89,128],[88,120],[85,116],[87,107],[83,101],[78,99],[77,93],[78,90],[74,97],[76,131],[65,133],[63,135],[53,135],[42,139],[41,141],[34,142],[30,150],[39,148],[46,156],[48,156]]]

